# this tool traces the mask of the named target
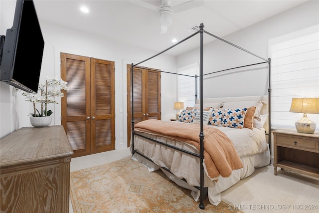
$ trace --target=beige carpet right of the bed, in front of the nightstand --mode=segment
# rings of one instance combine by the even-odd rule
[[[319,213],[319,179],[274,167],[258,168],[222,193],[245,213]]]

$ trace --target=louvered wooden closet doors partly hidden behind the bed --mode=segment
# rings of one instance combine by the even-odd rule
[[[128,146],[132,132],[132,75],[131,65],[127,65],[128,91]],[[134,121],[135,124],[143,120],[160,120],[160,72],[147,68],[134,68]]]

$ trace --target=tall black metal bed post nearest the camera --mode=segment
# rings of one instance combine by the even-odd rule
[[[204,128],[203,128],[203,28],[204,24],[199,26],[200,33],[200,209],[205,209],[204,205]]]

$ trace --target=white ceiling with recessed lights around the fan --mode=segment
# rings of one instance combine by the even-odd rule
[[[193,25],[204,24],[204,29],[219,37],[240,30],[307,0],[204,0],[204,4],[184,11],[174,12],[173,22],[165,34],[160,34],[160,13],[130,0],[34,0],[40,22],[47,21],[80,31],[89,32],[160,52],[192,34]],[[154,5],[159,0],[145,0]],[[171,6],[185,0],[172,0]],[[187,1],[187,0],[186,0]],[[89,8],[88,13],[80,6]],[[204,43],[212,41],[204,37]],[[207,39],[206,39],[207,38]],[[199,46],[195,37],[187,45],[168,50],[179,55]]]

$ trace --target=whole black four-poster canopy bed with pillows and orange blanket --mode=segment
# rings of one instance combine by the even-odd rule
[[[183,110],[173,122],[145,120],[135,124],[132,113],[130,144],[133,160],[144,163],[150,171],[161,169],[177,185],[190,189],[194,200],[200,200],[200,209],[204,209],[206,194],[210,203],[218,205],[221,192],[250,176],[255,168],[270,163],[270,59],[264,59],[203,28],[201,23],[198,32],[140,63],[132,63],[131,72],[134,112],[134,67],[200,34],[200,76],[190,76],[195,78],[195,82],[197,77],[200,78],[200,98],[197,99],[195,92],[195,106]],[[268,96],[203,99],[203,76],[212,74],[203,74],[204,32],[263,60],[245,66],[268,63]],[[268,122],[265,122],[266,119]]]

